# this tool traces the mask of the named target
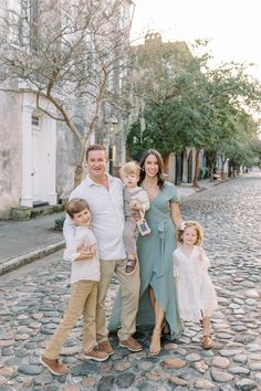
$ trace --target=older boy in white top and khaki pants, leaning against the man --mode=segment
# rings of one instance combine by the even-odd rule
[[[60,362],[58,357],[81,315],[83,316],[84,358],[95,361],[104,361],[108,358],[106,352],[95,348],[100,262],[96,240],[91,230],[88,203],[80,198],[72,199],[66,205],[66,212],[75,224],[74,240],[64,251],[64,260],[72,262],[71,297],[63,319],[40,357],[40,362],[54,374],[67,373],[67,367]]]

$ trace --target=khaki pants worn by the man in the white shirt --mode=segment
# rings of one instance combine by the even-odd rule
[[[107,289],[115,273],[122,292],[119,340],[125,340],[136,331],[136,315],[139,299],[139,268],[134,274],[125,273],[126,260],[101,261],[101,281],[97,293],[97,342],[107,340],[106,306]]]

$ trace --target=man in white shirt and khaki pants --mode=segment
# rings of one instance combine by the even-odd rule
[[[83,198],[88,202],[92,212],[92,226],[97,240],[101,261],[101,281],[97,294],[97,344],[98,350],[113,355],[106,328],[105,299],[115,273],[122,292],[123,306],[121,314],[121,329],[118,330],[119,346],[130,351],[143,350],[142,346],[132,337],[136,331],[136,314],[139,298],[139,271],[132,275],[125,273],[126,251],[123,240],[124,209],[123,184],[117,178],[106,172],[107,157],[105,148],[93,145],[87,148],[86,160],[88,176],[73,190],[72,198]],[[66,244],[74,237],[74,226],[66,218],[63,234]]]

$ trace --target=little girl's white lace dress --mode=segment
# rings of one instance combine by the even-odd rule
[[[217,294],[208,274],[209,266],[209,260],[200,246],[195,245],[189,256],[180,247],[174,251],[174,275],[184,320],[198,321],[210,317],[218,307]]]

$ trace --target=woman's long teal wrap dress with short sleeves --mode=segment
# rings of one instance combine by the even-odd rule
[[[170,215],[170,203],[179,202],[176,187],[165,182],[158,196],[150,201],[146,220],[152,230],[149,235],[139,235],[137,252],[140,272],[140,298],[137,314],[137,326],[154,326],[154,310],[148,296],[152,286],[164,309],[170,328],[170,336],[178,337],[182,330],[179,317],[177,294],[174,281],[173,252],[176,249],[176,229]],[[121,292],[115,302],[108,324],[109,330],[119,326]]]

